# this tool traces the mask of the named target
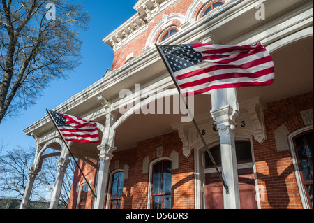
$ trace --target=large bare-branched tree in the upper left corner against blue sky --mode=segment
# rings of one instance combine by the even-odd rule
[[[0,124],[35,103],[53,78],[66,77],[80,64],[90,17],[65,0],[1,0]]]

